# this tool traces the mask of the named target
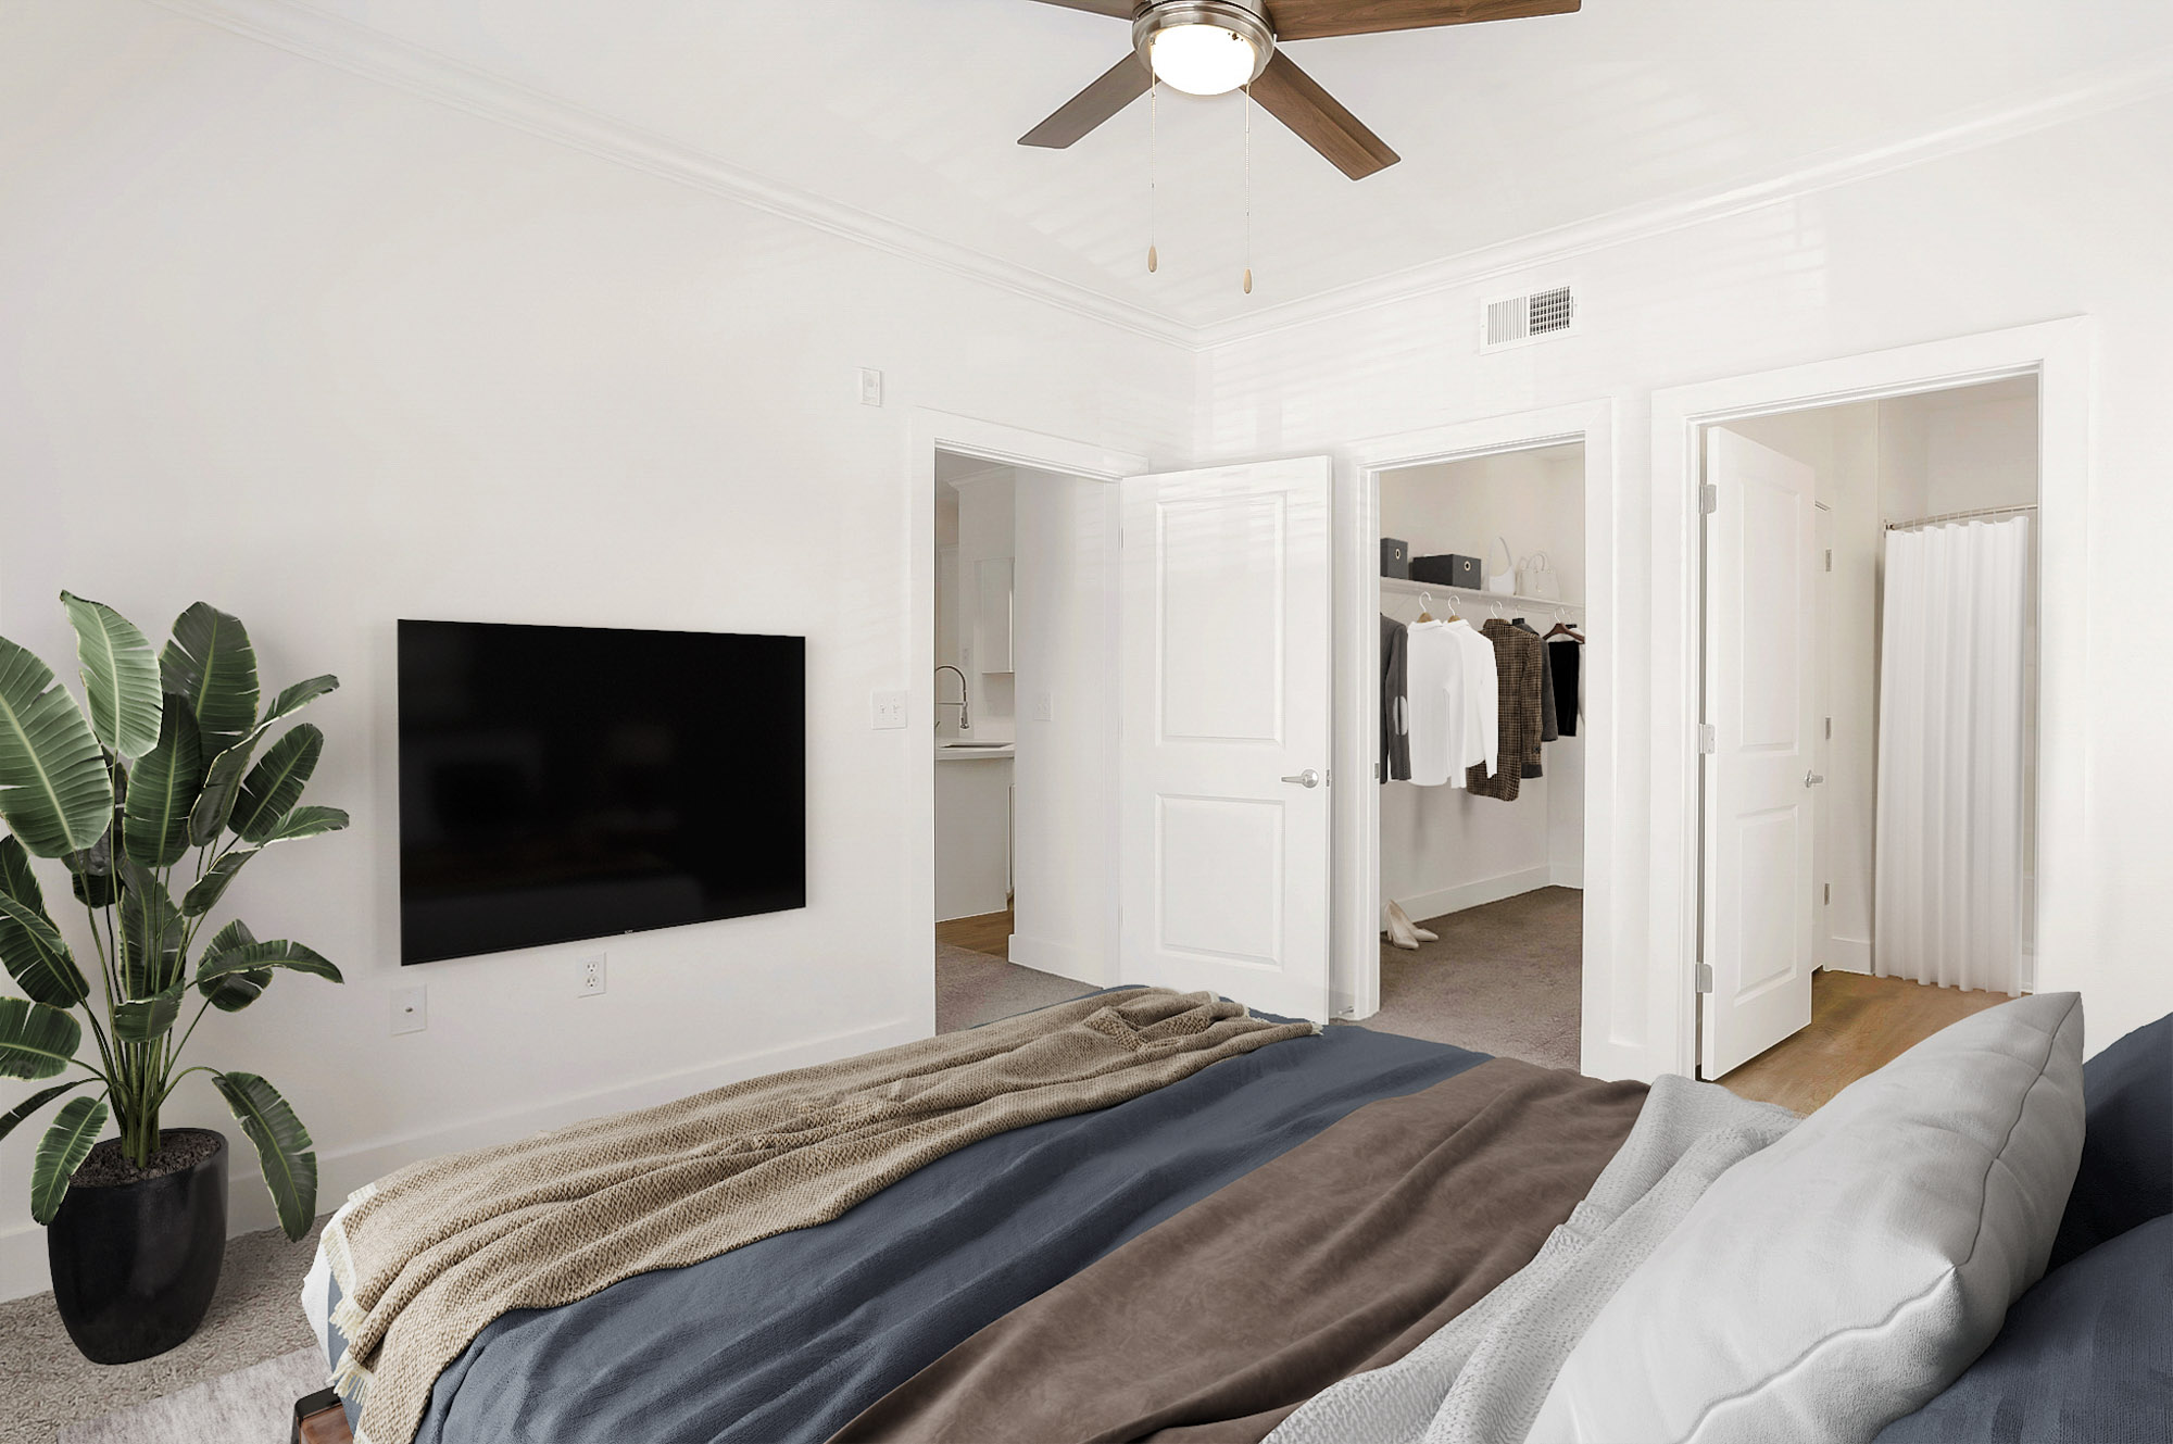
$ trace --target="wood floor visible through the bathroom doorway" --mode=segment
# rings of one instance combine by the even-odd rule
[[[1862,972],[1817,972],[1810,979],[1810,1026],[1725,1074],[1721,1087],[1808,1113],[1949,1022],[1999,1003],[2008,996]]]

